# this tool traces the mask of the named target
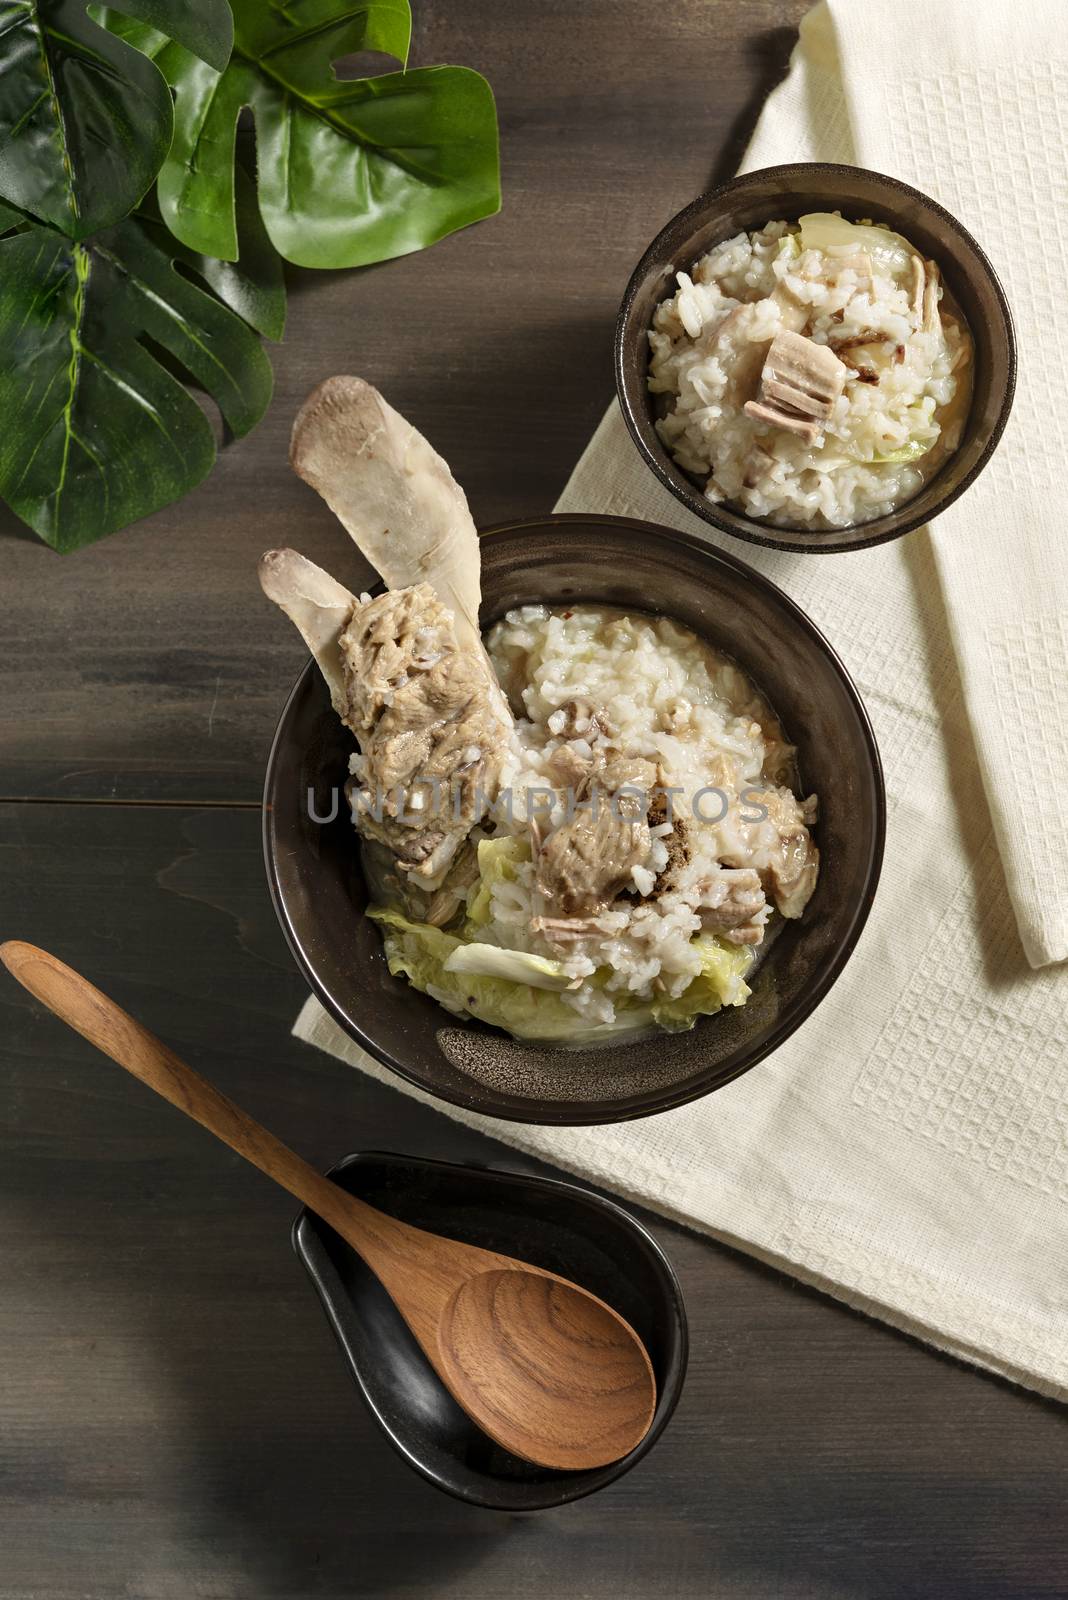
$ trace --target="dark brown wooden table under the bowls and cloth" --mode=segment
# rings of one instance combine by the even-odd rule
[[[181,506],[77,557],[0,530],[2,931],[93,974],[312,1160],[488,1139],[288,1037],[264,755],[301,648],[254,563],[350,547],[286,467],[328,373],[381,384],[480,522],[547,510],[660,224],[726,174],[806,0],[417,0],[492,80],[504,214],[293,275],[277,395]],[[676,1419],[592,1501],[470,1510],[409,1474],[289,1251],[293,1206],[0,984],[0,1595],[1068,1595],[1068,1419],[654,1222],[692,1320]],[[529,1165],[516,1160],[516,1165]]]

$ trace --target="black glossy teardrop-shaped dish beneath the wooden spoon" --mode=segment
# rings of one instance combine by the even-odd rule
[[[452,1400],[371,1269],[310,1211],[293,1226],[304,1264],[368,1408],[404,1461],[446,1494],[494,1510],[544,1510],[593,1494],[652,1450],[686,1376],[686,1309],[667,1256],[622,1206],[552,1178],[369,1150],[329,1173],[416,1227],[558,1272],[608,1301],[644,1341],[657,1379],[652,1426],[608,1467],[550,1472],[494,1445]]]

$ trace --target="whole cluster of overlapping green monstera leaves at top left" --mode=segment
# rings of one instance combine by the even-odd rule
[[[0,496],[48,544],[200,483],[206,402],[259,421],[280,256],[361,266],[499,208],[476,72],[337,77],[409,34],[408,0],[0,0]]]

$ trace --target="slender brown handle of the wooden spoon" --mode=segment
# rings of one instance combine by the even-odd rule
[[[126,1072],[177,1106],[216,1139],[243,1155],[253,1166],[273,1178],[291,1195],[302,1200],[333,1229],[363,1253],[360,1232],[363,1213],[379,1214],[361,1200],[344,1194],[329,1178],[301,1160],[281,1139],[248,1117],[240,1106],[213,1088],[198,1072],[187,1067],[173,1050],[128,1016],[122,1006],[94,989],[88,979],[64,966],[46,950],[11,939],[0,944],[0,960],[24,989],[42,1005],[62,1018],[91,1045],[117,1061]],[[381,1219],[385,1221],[385,1219]],[[377,1232],[377,1229],[376,1229]],[[377,1251],[374,1251],[377,1254]],[[371,1254],[371,1253],[368,1253]],[[369,1261],[374,1267],[374,1261]],[[376,1269],[377,1270],[377,1269]]]

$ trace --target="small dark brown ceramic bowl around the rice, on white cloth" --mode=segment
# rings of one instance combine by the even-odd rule
[[[972,406],[959,448],[913,499],[903,501],[887,517],[849,528],[780,528],[756,522],[729,506],[713,506],[697,480],[676,466],[660,443],[654,427],[654,395],[646,384],[646,334],[656,307],[671,293],[675,274],[689,270],[694,261],[734,234],[779,219],[796,222],[806,211],[841,211],[851,222],[886,222],[902,234],[938,264],[975,341]],[[1009,302],[972,235],[935,200],[895,178],[823,162],[767,166],[699,195],[671,218],[646,250],[627,285],[616,323],[619,403],[632,438],[656,475],[687,510],[713,528],[777,550],[862,550],[870,544],[899,539],[931,522],[975,482],[990,461],[1009,421],[1015,373],[1015,331]]]

